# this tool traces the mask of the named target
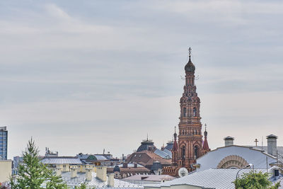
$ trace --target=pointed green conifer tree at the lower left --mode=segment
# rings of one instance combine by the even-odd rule
[[[39,189],[45,183],[47,189],[65,189],[66,183],[61,176],[55,173],[40,162],[39,151],[35,147],[35,142],[31,138],[27,148],[23,153],[23,164],[18,165],[18,177],[16,181],[11,178],[11,188],[13,189]]]

